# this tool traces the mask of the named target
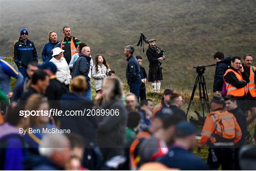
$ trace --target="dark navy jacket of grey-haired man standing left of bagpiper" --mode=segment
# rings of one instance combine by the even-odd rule
[[[140,68],[137,59],[131,55],[127,61],[126,79],[128,85],[130,85],[132,82],[141,82]]]

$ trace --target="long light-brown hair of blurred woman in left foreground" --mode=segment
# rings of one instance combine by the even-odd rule
[[[40,94],[31,95],[26,103],[25,110],[27,111],[37,111],[42,103],[48,103],[46,98]],[[38,116],[29,116],[29,126],[37,126]]]

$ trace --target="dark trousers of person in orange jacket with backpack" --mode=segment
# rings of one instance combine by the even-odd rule
[[[214,161],[214,156],[212,155],[211,149],[213,149],[217,161]],[[209,155],[207,159],[208,165],[213,170],[218,170],[219,165],[221,165],[222,170],[234,170],[235,162],[235,149],[230,148],[209,148]]]

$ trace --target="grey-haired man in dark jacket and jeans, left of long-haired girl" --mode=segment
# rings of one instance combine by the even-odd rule
[[[91,66],[91,49],[88,46],[85,46],[82,48],[82,51],[80,53],[79,58],[75,61],[73,65],[73,78],[76,76],[85,76],[87,80],[87,85],[88,89],[85,91],[83,94],[84,97],[92,101],[92,96],[91,96],[91,82],[90,82],[90,77],[88,76],[89,71]]]

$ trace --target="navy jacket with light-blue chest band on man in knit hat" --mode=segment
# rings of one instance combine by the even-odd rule
[[[27,68],[27,64],[30,61],[38,61],[37,50],[32,41],[27,39],[26,44],[23,42],[21,37],[13,45],[13,59],[17,67],[22,66]]]

